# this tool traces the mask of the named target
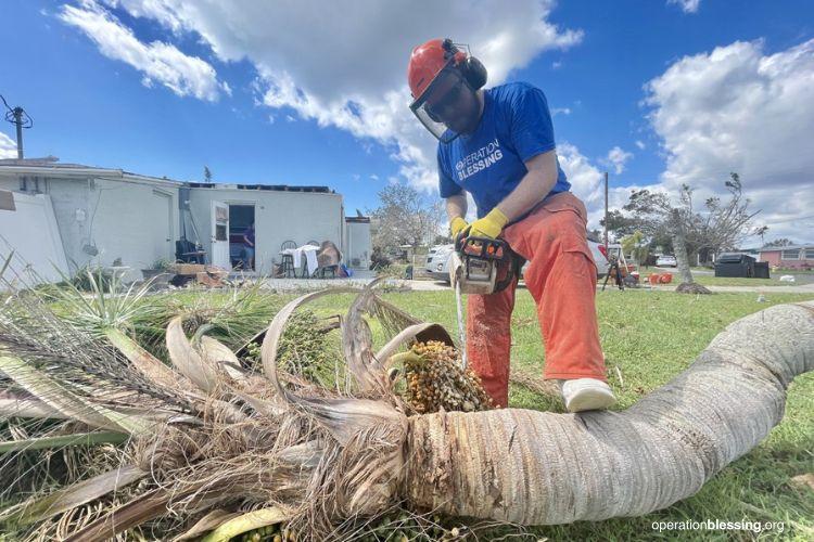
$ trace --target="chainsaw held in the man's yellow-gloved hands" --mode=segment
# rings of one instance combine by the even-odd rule
[[[519,274],[522,260],[500,238],[458,235],[449,260],[449,284],[455,289],[461,364],[467,369],[461,294],[488,295],[503,291]]]

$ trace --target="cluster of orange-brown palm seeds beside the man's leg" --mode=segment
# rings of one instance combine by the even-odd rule
[[[405,361],[406,400],[419,414],[445,411],[474,412],[492,408],[481,379],[463,370],[460,354],[437,340],[416,343],[410,348],[418,358]]]

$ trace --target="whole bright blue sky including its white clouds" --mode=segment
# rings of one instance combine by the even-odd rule
[[[814,158],[796,147],[814,126],[814,2],[343,5],[7,1],[0,93],[35,119],[29,157],[326,184],[352,214],[393,179],[433,190],[433,140],[414,126],[404,73],[410,46],[448,35],[493,81],[546,92],[594,225],[605,170],[612,205],[629,186],[716,194],[737,170],[770,237],[814,242]]]

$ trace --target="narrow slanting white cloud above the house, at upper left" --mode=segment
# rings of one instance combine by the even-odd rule
[[[152,88],[158,82],[180,96],[192,95],[206,101],[231,93],[227,83],[218,81],[208,63],[169,43],[139,41],[131,29],[93,0],[82,0],[80,7],[63,5],[58,17],[84,31],[103,55],[141,72],[144,87]]]

